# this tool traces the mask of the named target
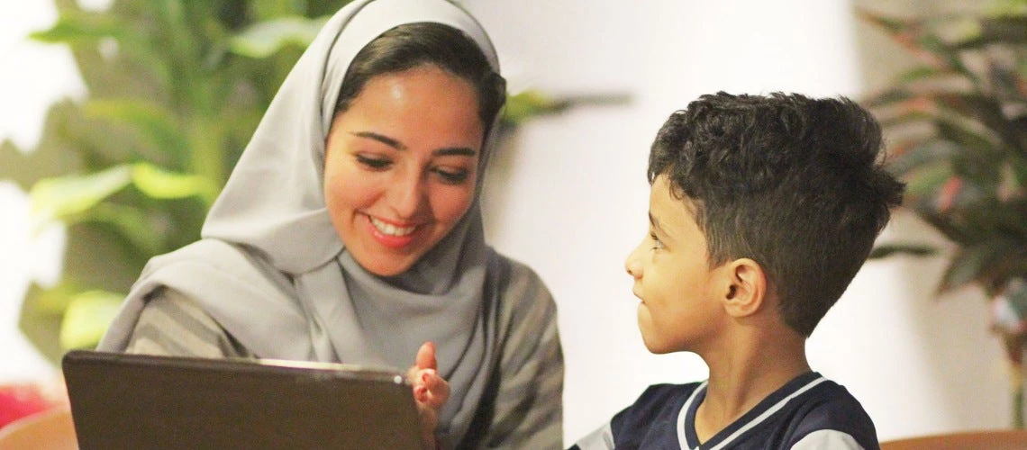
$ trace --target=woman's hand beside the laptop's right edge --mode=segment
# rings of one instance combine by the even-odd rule
[[[424,342],[417,351],[414,365],[407,371],[407,377],[414,386],[414,402],[421,416],[421,433],[424,447],[438,448],[435,426],[439,424],[439,410],[449,400],[449,382],[439,375],[435,362],[435,344]]]

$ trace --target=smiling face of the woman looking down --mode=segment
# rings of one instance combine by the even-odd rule
[[[474,197],[485,127],[473,86],[435,66],[370,79],[328,135],[325,202],[353,258],[402,274]]]

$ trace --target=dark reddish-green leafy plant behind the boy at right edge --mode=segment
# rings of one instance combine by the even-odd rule
[[[863,103],[890,142],[887,167],[907,182],[905,207],[955,246],[938,291],[973,286],[990,299],[1013,367],[1014,425],[1023,427],[1027,1],[980,15],[860,14],[917,62]],[[871,257],[936,252],[915,242],[882,243]]]

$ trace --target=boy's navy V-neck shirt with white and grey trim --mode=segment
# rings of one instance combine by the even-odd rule
[[[604,426],[606,448],[697,448],[694,417],[705,396],[705,382],[649,386]],[[768,396],[701,448],[715,447],[877,449],[878,444],[860,402],[842,385],[811,372]]]

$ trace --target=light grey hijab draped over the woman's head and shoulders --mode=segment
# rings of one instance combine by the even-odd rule
[[[203,239],[150,260],[98,350],[123,351],[147,296],[161,286],[193,298],[261,358],[406,369],[430,340],[453,393],[440,431],[459,442],[496,358],[495,336],[487,331],[494,329],[488,312],[497,298],[494,289],[486,292],[494,253],[485,244],[479,196],[409,271],[380,278],[343,247],[322,187],[326,137],[353,57],[382,33],[424,22],[461,30],[499,72],[485,31],[448,1],[357,0],[342,8],[271,101],[211,209]]]

